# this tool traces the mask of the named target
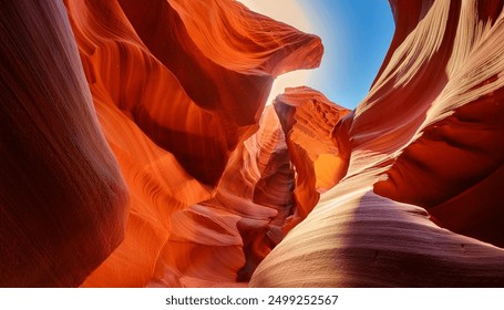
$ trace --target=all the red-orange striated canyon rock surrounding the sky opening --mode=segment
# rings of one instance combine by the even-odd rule
[[[11,2],[1,287],[504,286],[503,1],[391,0],[351,112],[233,0]]]

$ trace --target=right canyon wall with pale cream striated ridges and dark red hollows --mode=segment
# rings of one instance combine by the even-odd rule
[[[503,2],[391,7],[389,53],[338,126],[347,174],[253,287],[504,286]]]

